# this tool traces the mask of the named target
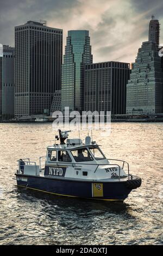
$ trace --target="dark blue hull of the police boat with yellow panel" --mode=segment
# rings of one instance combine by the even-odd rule
[[[59,196],[79,197],[98,200],[124,200],[132,187],[127,181],[79,181],[79,180],[63,180],[53,179],[43,176],[32,176],[16,174],[17,186],[26,187],[36,191],[56,194]],[[141,179],[137,187],[141,185]]]

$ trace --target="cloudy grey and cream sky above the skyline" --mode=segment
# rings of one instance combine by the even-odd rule
[[[0,44],[14,46],[15,26],[46,20],[47,26],[63,29],[63,51],[68,30],[89,30],[93,63],[135,62],[139,47],[148,40],[151,16],[163,26],[162,0],[0,0],[0,4]]]

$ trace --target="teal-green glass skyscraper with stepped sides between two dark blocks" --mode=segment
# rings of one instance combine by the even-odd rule
[[[89,31],[68,31],[61,78],[62,111],[83,110],[84,64],[92,63]]]

